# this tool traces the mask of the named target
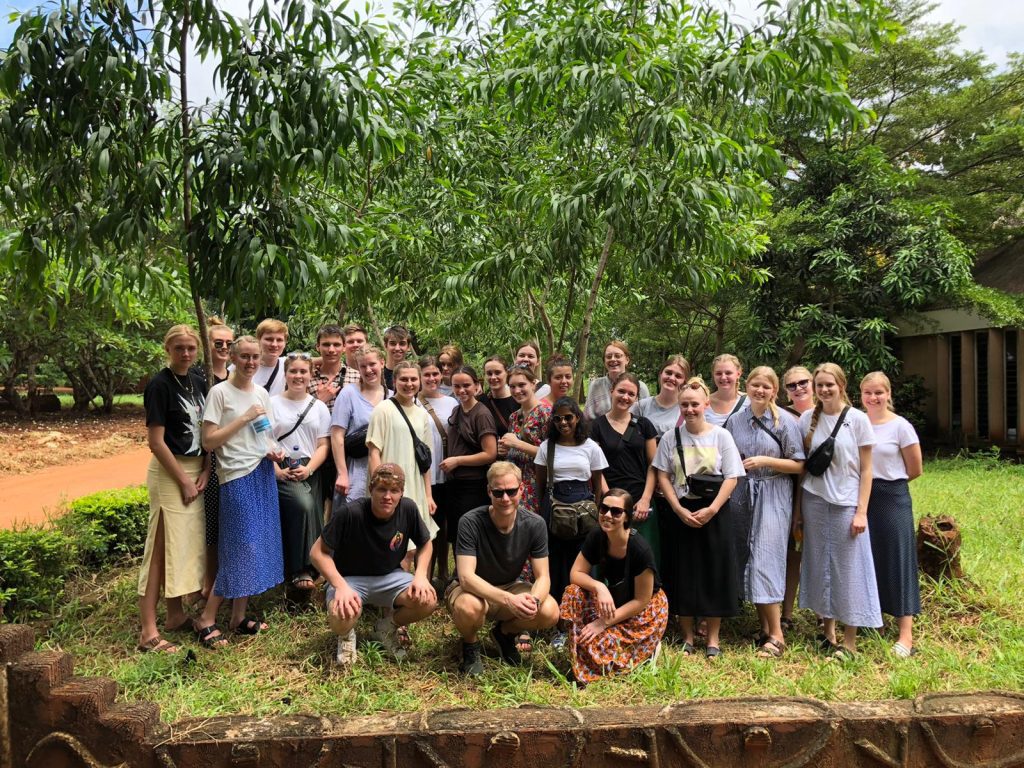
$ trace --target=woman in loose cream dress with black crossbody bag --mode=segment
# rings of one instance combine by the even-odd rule
[[[367,431],[369,470],[373,474],[381,464],[397,464],[401,467],[406,473],[403,496],[416,503],[420,519],[433,539],[437,535],[437,524],[434,522],[437,508],[434,506],[430,468],[421,470],[417,466],[413,442],[414,432],[429,446],[434,441],[430,434],[427,412],[416,404],[416,394],[420,391],[420,367],[412,360],[401,360],[395,364],[393,377],[394,397],[380,403],[370,416],[370,429]]]

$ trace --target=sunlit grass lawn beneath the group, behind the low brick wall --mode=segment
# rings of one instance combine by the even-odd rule
[[[814,648],[814,617],[799,615],[783,658],[757,658],[743,639],[757,629],[752,609],[723,626],[716,663],[682,656],[667,644],[656,669],[578,689],[568,663],[546,642],[530,664],[512,669],[485,659],[485,674],[458,672],[458,635],[443,612],[411,629],[415,648],[402,664],[360,644],[349,674],[332,669],[334,638],[323,609],[286,609],[281,594],[256,601],[271,630],[220,652],[196,647],[177,655],[134,652],[136,567],[91,577],[54,616],[40,645],[76,656],[79,674],[115,678],[127,698],[160,703],[168,722],[185,717],[274,713],[370,714],[538,705],[657,705],[696,696],[814,696],[824,700],[910,698],[929,691],[1024,690],[1024,466],[982,458],[929,462],[912,484],[916,514],[952,514],[964,535],[972,583],[923,585],[915,624],[919,654],[898,659],[895,635],[862,633],[855,660],[825,660]],[[226,618],[226,614],[224,615]],[[369,629],[369,627],[360,627]],[[486,647],[486,644],[485,644]]]

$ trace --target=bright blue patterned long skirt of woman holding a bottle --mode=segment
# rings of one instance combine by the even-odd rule
[[[221,597],[258,595],[285,580],[278,483],[268,459],[220,484],[217,557],[213,591]]]

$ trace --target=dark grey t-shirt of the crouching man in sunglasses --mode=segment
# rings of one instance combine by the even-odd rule
[[[548,556],[548,526],[540,515],[520,507],[512,530],[503,534],[487,508],[477,507],[459,520],[455,553],[475,557],[476,574],[487,584],[511,584],[527,558]]]

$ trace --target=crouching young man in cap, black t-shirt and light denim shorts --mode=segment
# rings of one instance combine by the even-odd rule
[[[346,503],[335,496],[334,512],[313,544],[313,565],[330,585],[328,624],[338,635],[336,662],[355,662],[355,623],[362,603],[384,608],[373,638],[395,658],[406,655],[406,625],[426,618],[437,607],[430,586],[430,535],[416,504],[403,499],[406,474],[397,464],[382,464],[370,477],[370,497]],[[401,570],[410,540],[416,545],[416,573]]]

